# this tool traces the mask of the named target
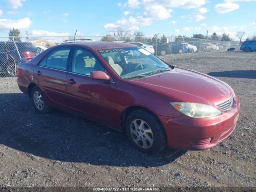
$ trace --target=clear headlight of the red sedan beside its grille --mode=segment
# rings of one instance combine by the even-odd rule
[[[218,109],[199,103],[170,102],[170,104],[184,115],[194,118],[213,117],[221,114]]]

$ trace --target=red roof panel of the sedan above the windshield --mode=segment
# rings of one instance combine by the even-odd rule
[[[84,47],[94,48],[95,50],[101,49],[113,49],[113,48],[123,48],[123,47],[135,47],[136,45],[129,44],[129,43],[120,43],[120,42],[76,42],[76,43],[68,43],[65,45],[79,45]]]

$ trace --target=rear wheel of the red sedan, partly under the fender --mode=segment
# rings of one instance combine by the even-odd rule
[[[52,108],[46,102],[44,95],[38,86],[33,87],[31,91],[31,100],[39,113],[47,114],[52,111]]]

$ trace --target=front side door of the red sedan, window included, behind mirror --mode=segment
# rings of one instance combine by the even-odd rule
[[[72,65],[67,73],[67,94],[70,108],[90,118],[113,125],[116,84],[94,80],[90,72],[105,71],[102,64],[84,48],[74,48]]]

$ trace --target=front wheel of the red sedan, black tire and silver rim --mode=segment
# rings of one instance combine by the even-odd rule
[[[166,147],[166,133],[161,122],[146,110],[131,112],[126,118],[125,128],[130,142],[141,152],[155,154]]]

